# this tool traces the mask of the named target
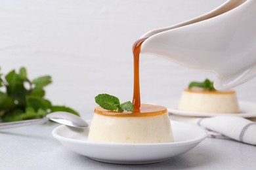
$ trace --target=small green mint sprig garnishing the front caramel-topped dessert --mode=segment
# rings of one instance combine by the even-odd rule
[[[109,95],[106,93],[99,94],[95,97],[95,102],[106,110],[117,110],[118,112],[123,112],[127,110],[132,112],[134,109],[133,103],[127,101],[125,103],[120,103],[119,99],[114,95]]]

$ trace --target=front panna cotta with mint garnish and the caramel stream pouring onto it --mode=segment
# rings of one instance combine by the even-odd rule
[[[89,141],[106,143],[170,143],[173,133],[165,107],[140,105],[139,54],[145,39],[133,44],[134,86],[133,104],[119,103],[113,95],[95,97],[100,107],[95,108]]]

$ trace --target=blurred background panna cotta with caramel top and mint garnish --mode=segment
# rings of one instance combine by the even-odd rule
[[[191,82],[182,92],[178,109],[194,112],[239,112],[236,92],[215,90],[213,82],[208,79],[204,82]]]

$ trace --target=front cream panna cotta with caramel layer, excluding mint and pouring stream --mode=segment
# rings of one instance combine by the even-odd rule
[[[139,112],[96,107],[88,139],[104,143],[170,143],[173,133],[165,107],[142,104]]]

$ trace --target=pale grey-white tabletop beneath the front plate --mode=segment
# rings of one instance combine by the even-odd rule
[[[255,146],[209,138],[189,152],[161,163],[101,163],[64,148],[51,135],[56,126],[59,125],[47,122],[1,130],[0,169],[256,169]]]

